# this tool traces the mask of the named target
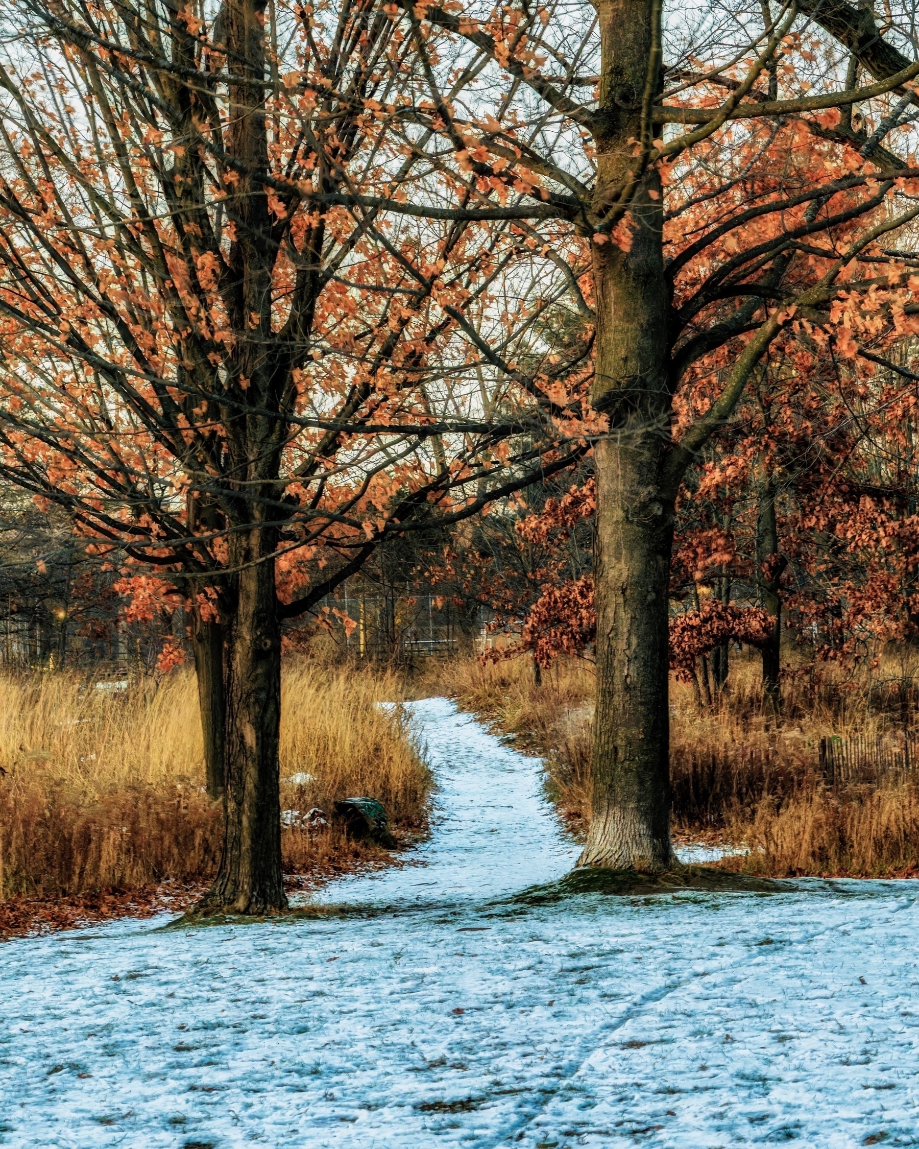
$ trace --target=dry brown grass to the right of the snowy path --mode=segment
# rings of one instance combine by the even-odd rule
[[[733,656],[729,689],[700,711],[690,686],[671,684],[674,831],[749,847],[726,862],[772,876],[890,876],[919,866],[919,792],[902,780],[833,791],[817,770],[821,738],[875,738],[902,715],[887,685],[911,674],[894,651],[872,677],[818,672],[803,658],[785,683],[785,720],[763,710],[759,660]],[[519,658],[443,668],[439,686],[515,745],[545,756],[550,796],[576,834],[590,819],[593,668],[558,660],[536,684]]]

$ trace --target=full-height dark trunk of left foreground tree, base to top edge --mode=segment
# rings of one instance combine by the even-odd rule
[[[225,0],[222,32],[227,68],[245,83],[230,84],[227,153],[245,175],[230,196],[227,215],[237,223],[232,248],[233,290],[227,310],[240,340],[234,368],[245,393],[262,410],[283,407],[286,364],[267,348],[277,346],[271,331],[271,217],[261,175],[269,170],[264,91],[264,0]],[[229,412],[227,412],[229,415]],[[283,419],[246,412],[226,418],[231,480],[237,506],[227,517],[229,570],[235,593],[224,620],[226,651],[224,841],[207,911],[264,913],[285,909],[280,859],[279,762],[280,625],[271,555],[277,529],[267,525],[285,439]]]

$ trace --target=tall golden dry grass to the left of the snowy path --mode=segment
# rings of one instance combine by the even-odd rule
[[[287,808],[331,810],[356,793],[379,797],[396,828],[419,827],[427,769],[386,674],[289,663],[284,679],[281,785]],[[195,684],[96,689],[70,674],[0,677],[2,893],[76,895],[202,881],[219,855],[219,805],[203,793]],[[285,866],[340,869],[363,850],[330,827],[283,834]],[[371,851],[372,853],[372,851]]]

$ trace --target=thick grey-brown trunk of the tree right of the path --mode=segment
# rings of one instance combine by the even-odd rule
[[[659,69],[659,7],[601,0],[602,72],[595,209],[634,167],[646,85]],[[649,67],[649,61],[651,64]],[[667,591],[675,494],[665,489],[671,402],[670,298],[656,170],[632,201],[631,244],[593,244],[596,377],[610,430],[596,457],[596,716],[593,812],[579,865],[667,869],[670,707]],[[628,250],[625,250],[625,248]]]

